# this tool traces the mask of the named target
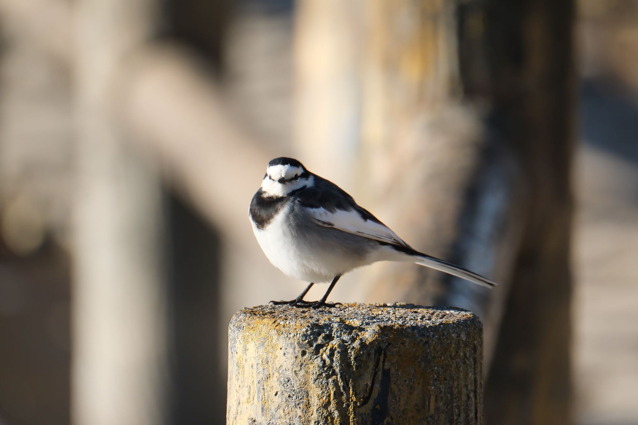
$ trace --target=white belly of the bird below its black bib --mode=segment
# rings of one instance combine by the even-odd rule
[[[290,277],[315,283],[328,282],[354,268],[343,256],[336,257],[308,243],[299,243],[299,238],[284,225],[285,217],[285,213],[279,213],[262,230],[253,223],[253,232],[263,253],[276,268]]]

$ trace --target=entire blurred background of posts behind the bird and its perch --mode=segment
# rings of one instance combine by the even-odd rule
[[[638,424],[637,142],[636,0],[0,0],[0,424],[224,423],[283,155],[501,282],[330,297],[479,314],[486,423]]]

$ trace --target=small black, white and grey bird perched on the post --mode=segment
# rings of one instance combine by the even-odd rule
[[[486,287],[496,285],[477,273],[422,254],[405,243],[336,184],[308,171],[296,159],[268,163],[249,210],[253,231],[271,263],[290,277],[310,282],[293,306],[334,306],[326,299],[348,271],[376,261],[406,261],[449,273]],[[304,301],[315,283],[330,282],[319,301]]]

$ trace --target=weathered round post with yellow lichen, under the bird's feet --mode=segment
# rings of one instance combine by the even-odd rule
[[[227,424],[480,424],[471,312],[258,306],[230,322]]]

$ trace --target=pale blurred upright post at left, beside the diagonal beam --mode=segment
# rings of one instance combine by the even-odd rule
[[[152,0],[78,0],[72,416],[76,424],[166,422],[162,217],[152,165],[127,145],[123,64],[149,38]]]

